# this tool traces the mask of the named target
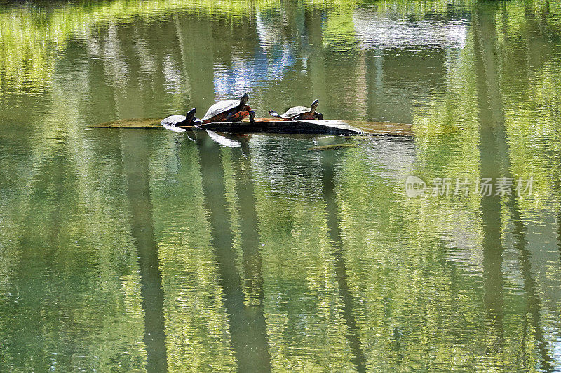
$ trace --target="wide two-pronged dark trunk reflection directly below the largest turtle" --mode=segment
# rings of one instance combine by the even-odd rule
[[[229,323],[231,344],[238,361],[239,372],[270,372],[271,357],[269,356],[266,323],[262,309],[262,274],[261,258],[257,251],[257,216],[255,195],[252,181],[242,176],[240,166],[243,154],[239,148],[234,152],[233,162],[236,165],[236,188],[241,216],[241,248],[243,249],[243,268],[248,275],[247,280],[252,286],[259,288],[257,295],[259,305],[247,307],[244,304],[242,279],[236,267],[236,251],[234,249],[234,233],[231,219],[227,211],[226,185],[221,160],[221,148],[208,135],[199,132],[196,135],[199,148],[203,194],[205,206],[210,219],[212,244],[215,249],[220,284],[224,290]]]

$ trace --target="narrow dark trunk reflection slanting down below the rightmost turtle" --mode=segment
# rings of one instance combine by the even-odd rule
[[[358,372],[365,372],[365,355],[360,346],[360,336],[356,325],[356,318],[353,314],[353,295],[349,290],[347,283],[347,274],[345,259],[343,257],[343,243],[341,239],[341,230],[339,228],[339,219],[337,218],[337,200],[335,199],[334,188],[334,163],[337,161],[338,152],[327,151],[321,153],[321,168],[323,194],[325,196],[325,204],[327,208],[327,227],[329,230],[329,238],[332,244],[330,255],[334,260],[335,279],[339,288],[339,296],[342,301],[342,311],[345,324],[347,326],[346,339],[349,342],[351,351],[353,351],[352,361]]]

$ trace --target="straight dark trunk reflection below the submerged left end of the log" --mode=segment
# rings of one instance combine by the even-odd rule
[[[144,131],[125,130],[122,136],[123,168],[130,204],[132,235],[138,251],[144,344],[147,372],[166,372],[165,323],[160,260],[154,241],[154,220],[149,190],[148,141]]]

